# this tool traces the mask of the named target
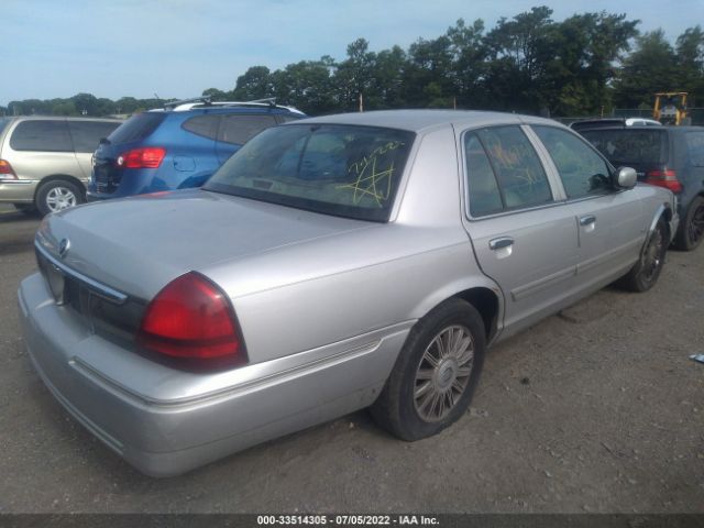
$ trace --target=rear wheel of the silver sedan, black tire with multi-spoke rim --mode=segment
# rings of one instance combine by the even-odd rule
[[[452,331],[461,333],[453,334]],[[452,344],[452,338],[457,338],[457,346],[447,346],[447,349],[458,351],[462,349],[466,337],[471,338],[473,345],[471,363],[455,359],[455,363],[452,364],[451,354],[448,354],[436,367],[432,367],[426,359],[426,353],[433,359],[436,354],[440,354],[437,339],[442,340],[443,336],[448,336],[448,341],[443,341],[444,344]],[[372,416],[384,429],[406,441],[419,440],[440,432],[455,422],[470,406],[484,364],[485,349],[484,322],[476,309],[461,299],[443,302],[411,329],[386,385],[371,408]],[[464,358],[463,354],[470,354],[469,349],[459,356]],[[422,369],[424,365],[430,369]],[[464,371],[461,365],[465,365]],[[460,375],[466,374],[468,366],[469,375]],[[429,372],[432,373],[432,377],[426,377]],[[455,382],[458,388],[455,388]],[[422,393],[427,387],[426,384],[430,384],[431,388]],[[460,391],[459,386],[463,386],[463,389]],[[416,397],[416,392],[422,393],[422,396]],[[451,394],[448,395],[448,393]],[[444,415],[440,413],[440,400],[437,406],[436,402],[427,404],[427,398],[438,398],[440,394],[442,394],[442,405],[448,406]],[[435,410],[438,413],[433,413]],[[428,415],[437,416],[428,418]]]

